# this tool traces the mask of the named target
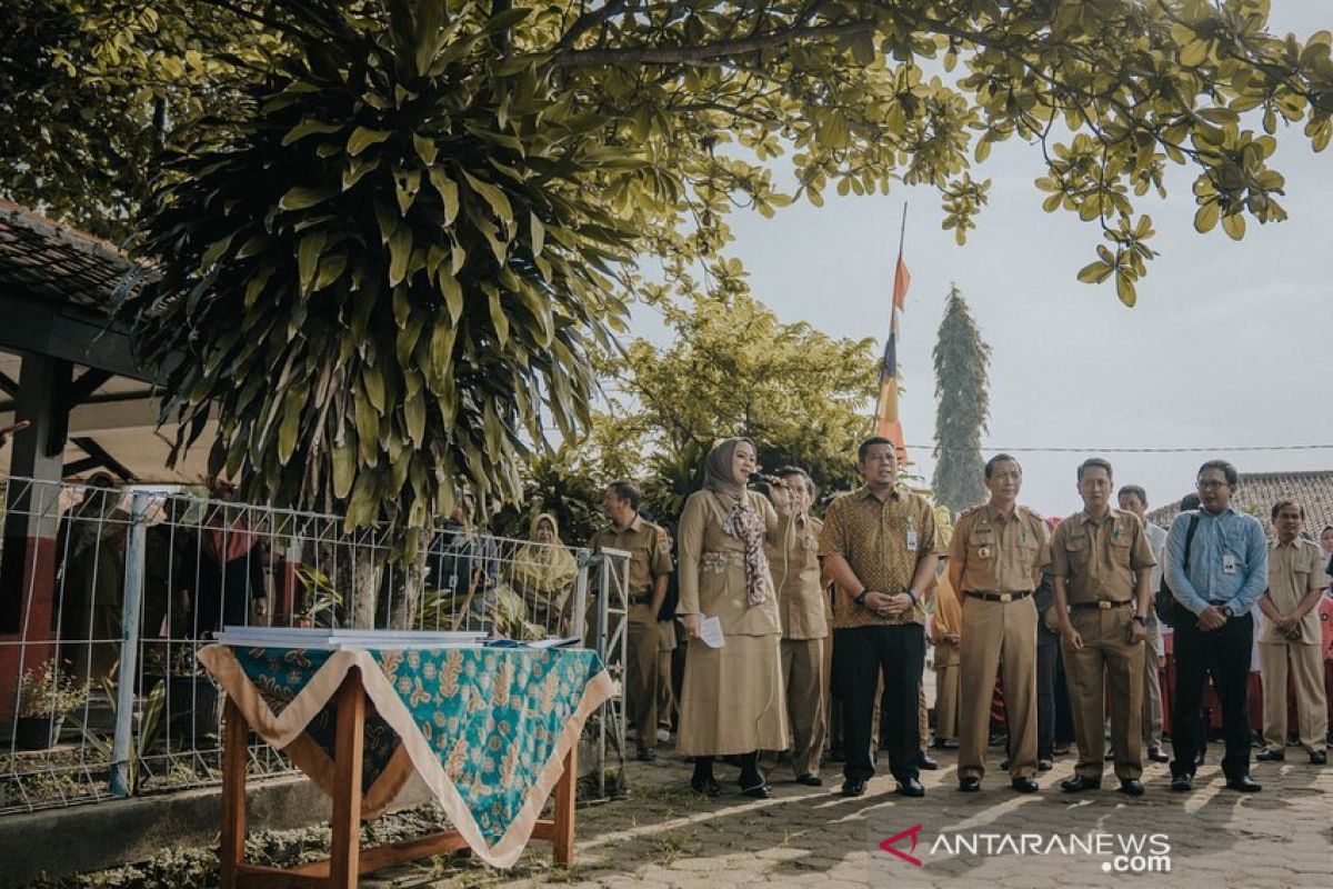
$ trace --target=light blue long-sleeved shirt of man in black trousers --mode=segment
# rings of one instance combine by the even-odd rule
[[[1189,576],[1185,534],[1190,516],[1198,516],[1189,544]],[[1268,541],[1254,516],[1230,506],[1213,514],[1206,509],[1176,516],[1166,533],[1166,582],[1176,601],[1198,614],[1209,602],[1222,602],[1232,614],[1246,614],[1268,589]]]

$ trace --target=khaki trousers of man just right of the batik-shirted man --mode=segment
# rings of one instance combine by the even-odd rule
[[[1004,680],[1009,716],[1009,777],[1037,774],[1037,608],[1032,596],[1012,602],[962,598],[958,668],[958,777],[986,772],[990,698],[996,673]]]

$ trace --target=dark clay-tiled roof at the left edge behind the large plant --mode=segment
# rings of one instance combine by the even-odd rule
[[[151,273],[109,241],[0,201],[0,289],[105,315]]]

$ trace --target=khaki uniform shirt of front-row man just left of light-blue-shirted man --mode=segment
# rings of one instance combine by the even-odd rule
[[[1070,605],[1124,602],[1134,597],[1136,572],[1156,564],[1138,516],[1113,508],[1097,521],[1085,509],[1056,528],[1048,570],[1068,584]]]

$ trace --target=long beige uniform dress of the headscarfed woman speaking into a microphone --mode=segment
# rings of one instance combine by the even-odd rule
[[[777,513],[766,497],[745,492],[772,538]],[[726,756],[785,750],[790,730],[782,694],[778,642],[782,626],[772,578],[768,596],[753,608],[745,597],[745,541],[722,530],[732,498],[700,490],[685,501],[680,518],[678,614],[717,617],[724,645],[689,641],[680,702],[681,756]]]

